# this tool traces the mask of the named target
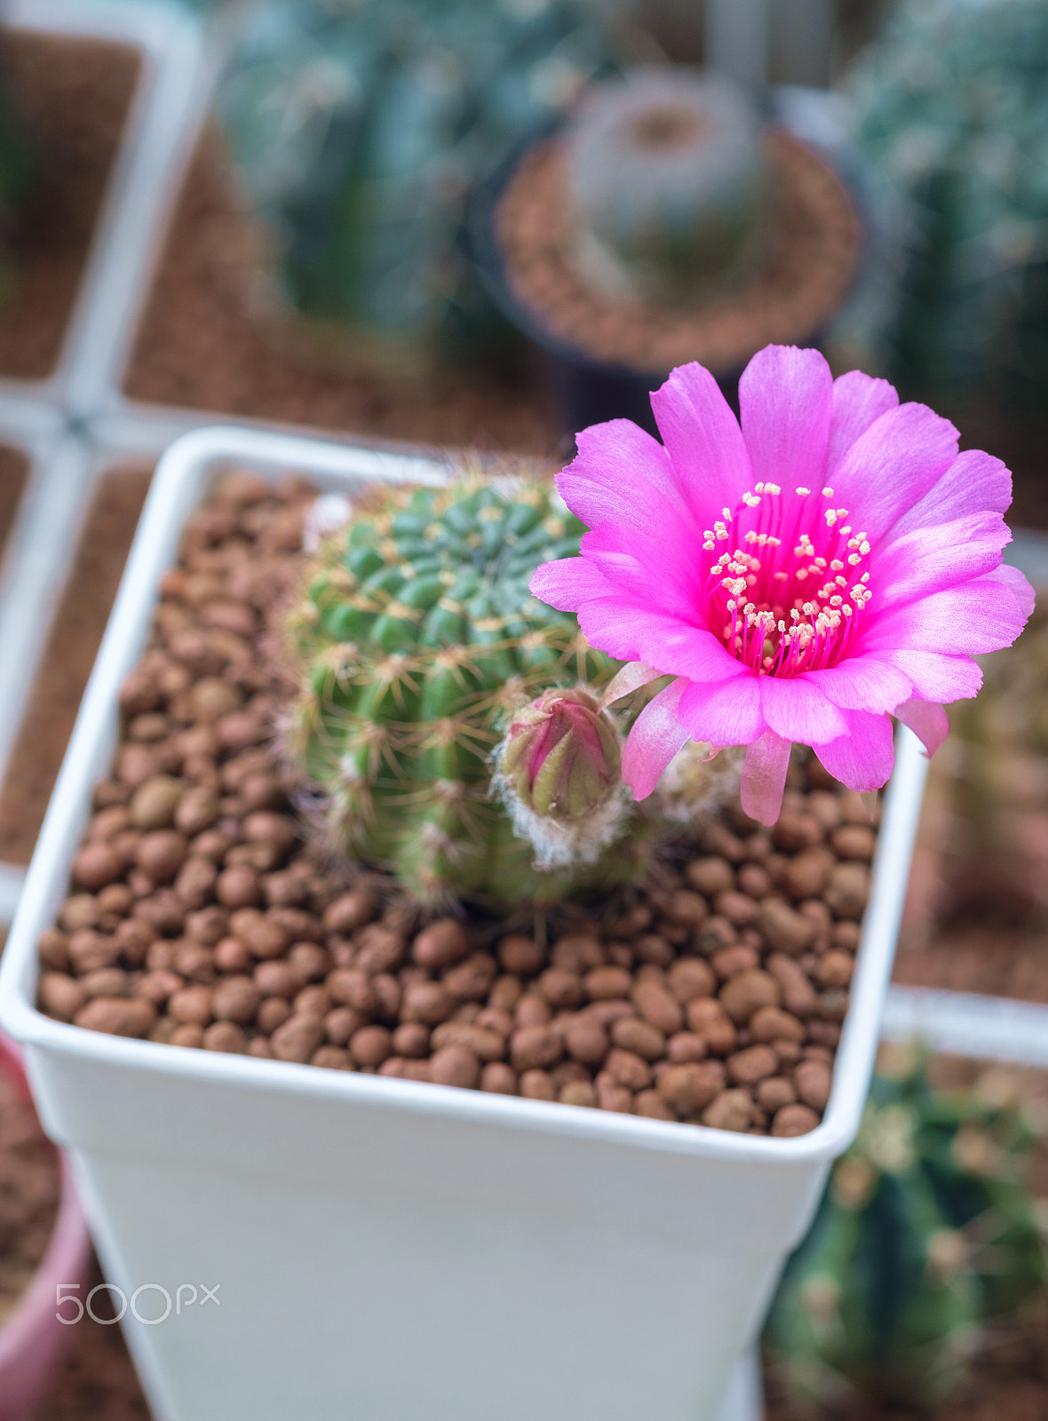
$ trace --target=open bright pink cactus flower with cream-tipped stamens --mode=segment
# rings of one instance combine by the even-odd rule
[[[770,824],[794,740],[856,790],[892,773],[889,713],[933,753],[943,703],[981,684],[971,657],[1010,645],[1034,594],[1001,564],[1011,475],[926,405],[782,345],[738,399],[741,421],[683,365],[652,395],[663,443],[628,419],[582,431],[558,486],[591,531],[531,591],[643,664],[623,685],[677,678],[626,742],[638,799],[689,736],[744,745],[743,807]]]

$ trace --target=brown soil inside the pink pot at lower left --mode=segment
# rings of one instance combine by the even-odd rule
[[[0,1070],[0,1326],[47,1252],[60,1192],[54,1145],[14,1079]]]

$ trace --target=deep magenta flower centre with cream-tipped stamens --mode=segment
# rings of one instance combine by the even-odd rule
[[[744,493],[703,534],[706,625],[758,675],[799,676],[849,655],[873,595],[865,533],[834,490]]]

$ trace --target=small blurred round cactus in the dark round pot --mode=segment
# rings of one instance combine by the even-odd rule
[[[575,257],[595,286],[694,300],[761,253],[761,119],[720,74],[632,70],[589,87],[564,129]]]

